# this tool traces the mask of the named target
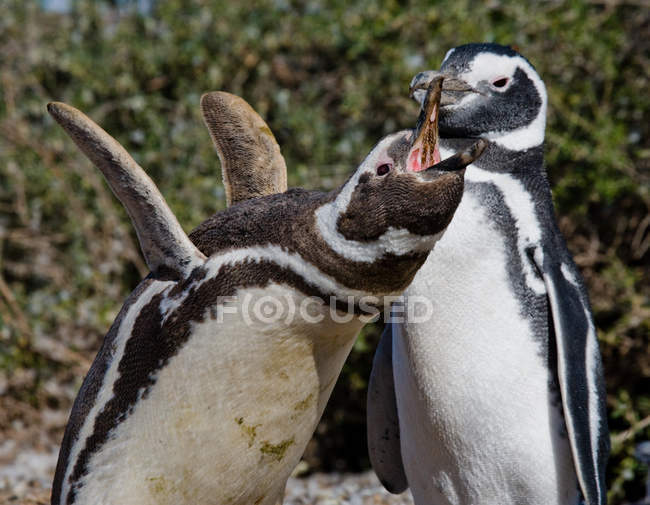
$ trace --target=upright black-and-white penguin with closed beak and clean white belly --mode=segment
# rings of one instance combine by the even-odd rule
[[[603,505],[603,371],[544,169],[544,83],[496,44],[450,50],[440,71],[413,79],[414,97],[440,75],[442,156],[491,143],[404,294],[426,300],[429,317],[382,335],[368,393],[373,467],[417,505],[573,505],[580,492]]]

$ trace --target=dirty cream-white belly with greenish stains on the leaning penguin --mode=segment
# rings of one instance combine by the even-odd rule
[[[92,456],[78,502],[275,503],[362,326],[332,322],[313,300],[320,324],[287,311],[305,299],[284,285],[240,290],[221,322],[195,323]],[[283,308],[272,322],[274,301]]]

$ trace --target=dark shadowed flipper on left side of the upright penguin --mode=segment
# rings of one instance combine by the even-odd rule
[[[386,324],[381,335],[368,382],[368,453],[372,467],[384,487],[402,493],[408,481],[402,463],[399,417],[393,379],[392,325]]]

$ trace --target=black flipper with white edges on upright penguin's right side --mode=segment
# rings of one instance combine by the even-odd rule
[[[536,263],[548,293],[576,474],[586,505],[605,505],[609,432],[602,363],[587,291],[572,260]]]

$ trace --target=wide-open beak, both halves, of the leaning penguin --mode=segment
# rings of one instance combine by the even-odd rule
[[[444,96],[446,79],[436,75],[427,85],[424,96],[424,106],[420,111],[411,150],[407,158],[407,169],[412,172],[423,172],[423,175],[434,176],[440,172],[462,170],[473,163],[488,146],[488,142],[479,139],[464,151],[441,161],[438,147],[438,116],[441,107],[441,97]],[[462,82],[462,81],[461,81]]]

